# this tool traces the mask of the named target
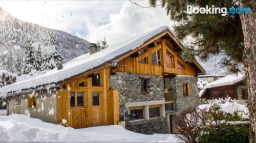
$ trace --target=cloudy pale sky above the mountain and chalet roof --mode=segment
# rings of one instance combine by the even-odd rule
[[[133,1],[149,6],[148,1]],[[164,8],[140,8],[129,1],[0,1],[20,20],[109,45],[173,22]]]

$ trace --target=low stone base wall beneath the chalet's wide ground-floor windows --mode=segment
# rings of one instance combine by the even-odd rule
[[[168,133],[166,118],[126,121],[125,128],[143,134]]]

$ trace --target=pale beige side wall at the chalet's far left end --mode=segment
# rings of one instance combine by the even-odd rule
[[[20,105],[15,105],[15,97],[8,99],[8,113],[25,114],[32,118],[38,118],[44,122],[57,123],[56,92],[46,92],[37,95],[36,108],[28,108],[28,94],[20,96]]]

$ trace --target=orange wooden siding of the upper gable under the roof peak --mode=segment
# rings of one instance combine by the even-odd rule
[[[159,40],[159,39],[158,39]],[[169,48],[168,45],[171,47]],[[119,72],[130,72],[130,73],[139,73],[139,74],[150,74],[150,75],[164,75],[164,74],[183,74],[183,75],[196,75],[195,68],[189,64],[185,63],[178,56],[178,53],[174,51],[173,45],[168,42],[166,39],[161,40],[161,44],[153,48],[144,47],[147,49],[147,52],[133,58],[128,56],[118,62],[118,66],[115,69]],[[152,64],[152,53],[160,50],[161,52],[161,65]],[[174,68],[167,67],[166,62],[166,51],[171,53],[174,56]],[[148,58],[148,63],[139,63],[140,60]],[[178,69],[177,61],[184,65],[184,69]]]

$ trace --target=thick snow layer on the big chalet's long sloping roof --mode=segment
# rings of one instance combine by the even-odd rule
[[[130,40],[111,45],[108,48],[102,49],[94,54],[87,53],[78,56],[77,58],[67,62],[66,64],[63,64],[63,69],[61,70],[57,70],[57,68],[55,68],[40,76],[7,85],[0,89],[0,93],[2,93],[2,96],[6,96],[6,94],[9,92],[21,91],[24,89],[35,88],[40,85],[47,85],[64,81],[78,74],[113,62],[120,56],[131,52],[132,50],[143,45],[148,40],[151,40],[155,36],[166,31],[174,34],[168,26],[159,27],[156,30],[139,35]],[[186,45],[184,44],[183,46],[186,47]],[[202,66],[199,62],[197,63],[199,64],[199,66],[201,66],[201,69],[204,70],[204,66]]]

